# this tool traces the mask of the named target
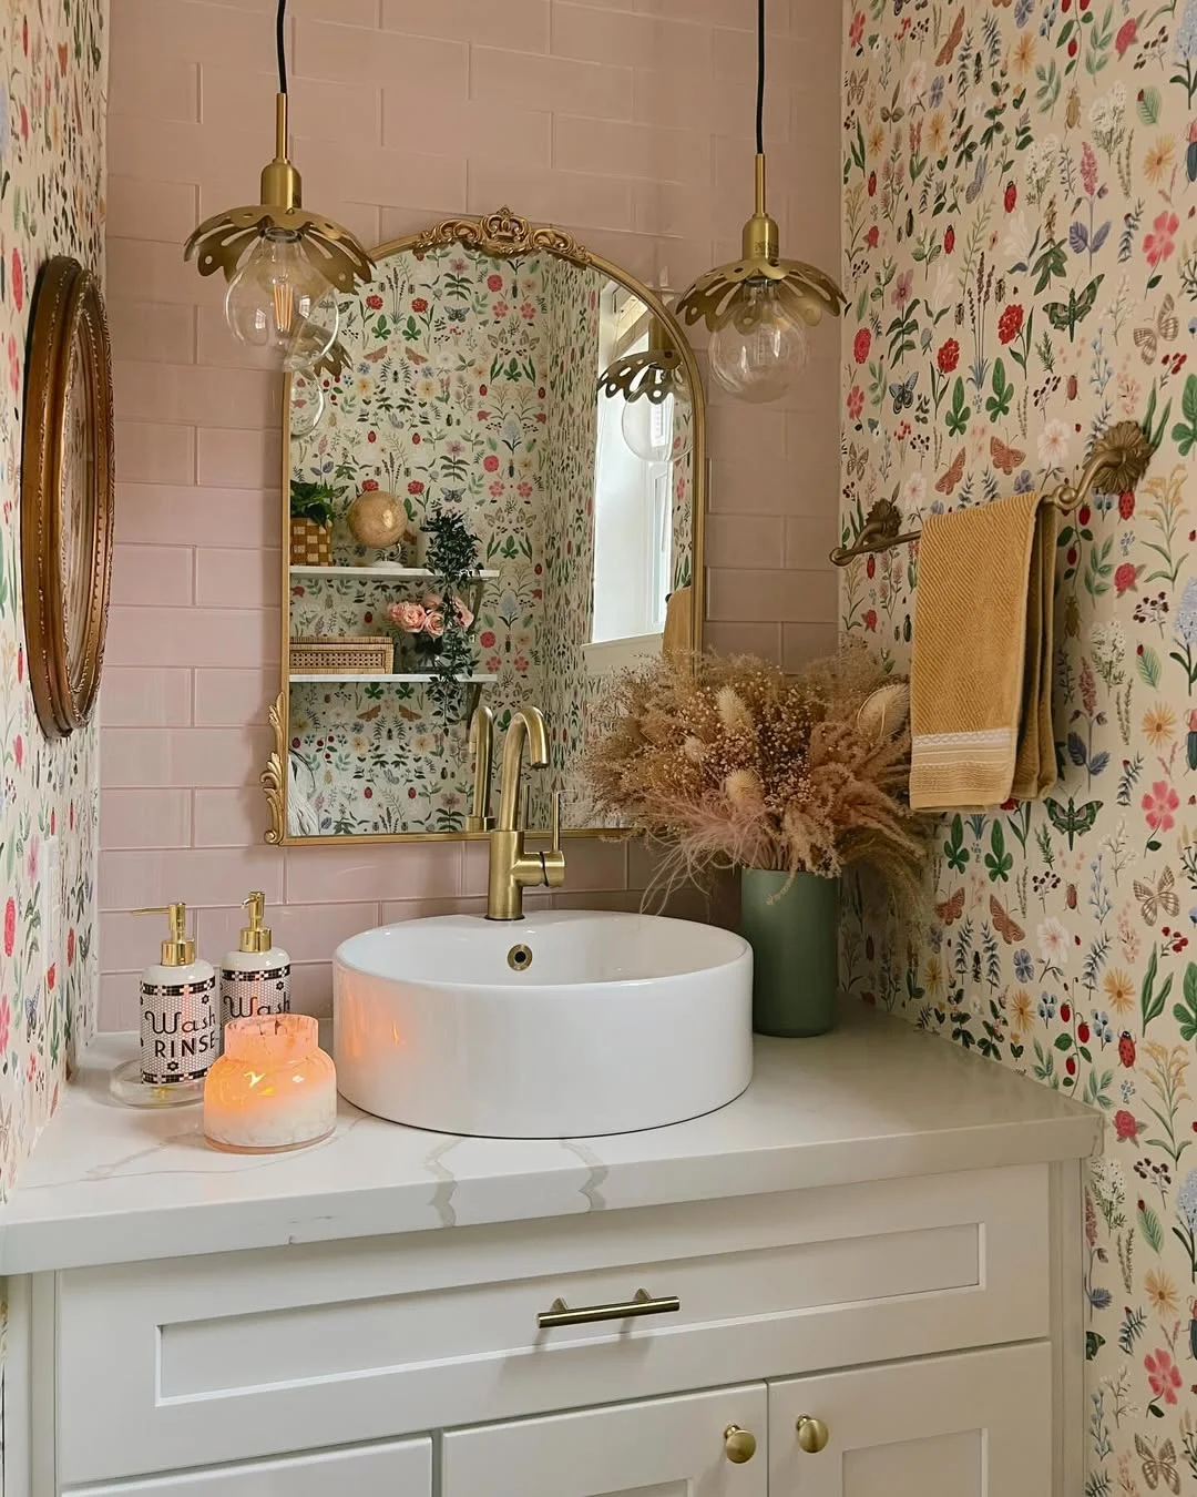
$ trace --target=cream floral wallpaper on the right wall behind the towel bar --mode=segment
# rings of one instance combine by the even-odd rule
[[[1101,1109],[1086,1192],[1086,1497],[1197,1490],[1197,0],[848,4],[842,528],[1073,473],[1136,419],[1136,491],[1059,534],[1061,783],[947,816],[923,918],[859,892],[866,1001]],[[917,546],[841,627],[910,654]]]

